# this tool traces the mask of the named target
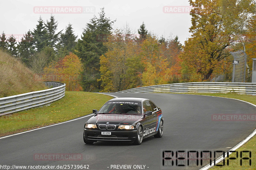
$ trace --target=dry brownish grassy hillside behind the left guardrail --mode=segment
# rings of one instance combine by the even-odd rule
[[[0,98],[46,89],[23,63],[0,50]]]

